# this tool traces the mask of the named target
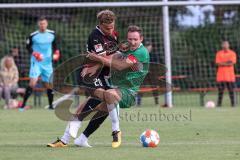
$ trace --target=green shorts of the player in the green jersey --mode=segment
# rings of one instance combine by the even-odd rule
[[[119,102],[120,108],[130,108],[135,105],[135,93],[127,88],[121,88],[122,94],[121,101]]]

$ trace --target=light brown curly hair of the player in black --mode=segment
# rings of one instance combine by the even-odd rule
[[[98,12],[97,19],[100,24],[107,23],[110,24],[115,21],[116,16],[115,14],[110,10],[102,10]]]

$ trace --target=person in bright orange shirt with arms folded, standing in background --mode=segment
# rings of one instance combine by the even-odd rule
[[[218,85],[218,102],[217,106],[222,105],[223,92],[225,87],[229,91],[229,97],[232,107],[235,106],[234,86],[235,86],[235,73],[234,64],[236,63],[236,53],[230,49],[228,41],[222,42],[222,50],[216,54],[217,65],[217,85]]]

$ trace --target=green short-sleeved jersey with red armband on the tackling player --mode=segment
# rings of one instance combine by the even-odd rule
[[[122,71],[112,71],[111,84],[136,93],[148,73],[149,53],[141,44],[136,50],[123,53],[123,56],[130,59],[134,65]]]

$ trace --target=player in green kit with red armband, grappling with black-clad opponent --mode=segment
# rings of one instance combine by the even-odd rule
[[[111,59],[104,56],[99,56],[94,53],[89,53],[88,58],[99,62],[93,68],[89,68],[86,74],[92,74],[103,64],[111,68],[110,89],[97,89],[94,95],[103,102],[102,107],[107,107],[108,111],[116,109],[117,104],[120,108],[128,108],[135,104],[135,95],[137,94],[140,85],[144,81],[148,73],[149,53],[143,46],[142,30],[138,26],[129,26],[127,32],[127,40],[130,49],[125,53],[114,54]],[[115,132],[120,134],[118,115],[115,116],[116,126]],[[121,144],[121,140],[116,139],[112,142],[112,147],[117,148]]]

